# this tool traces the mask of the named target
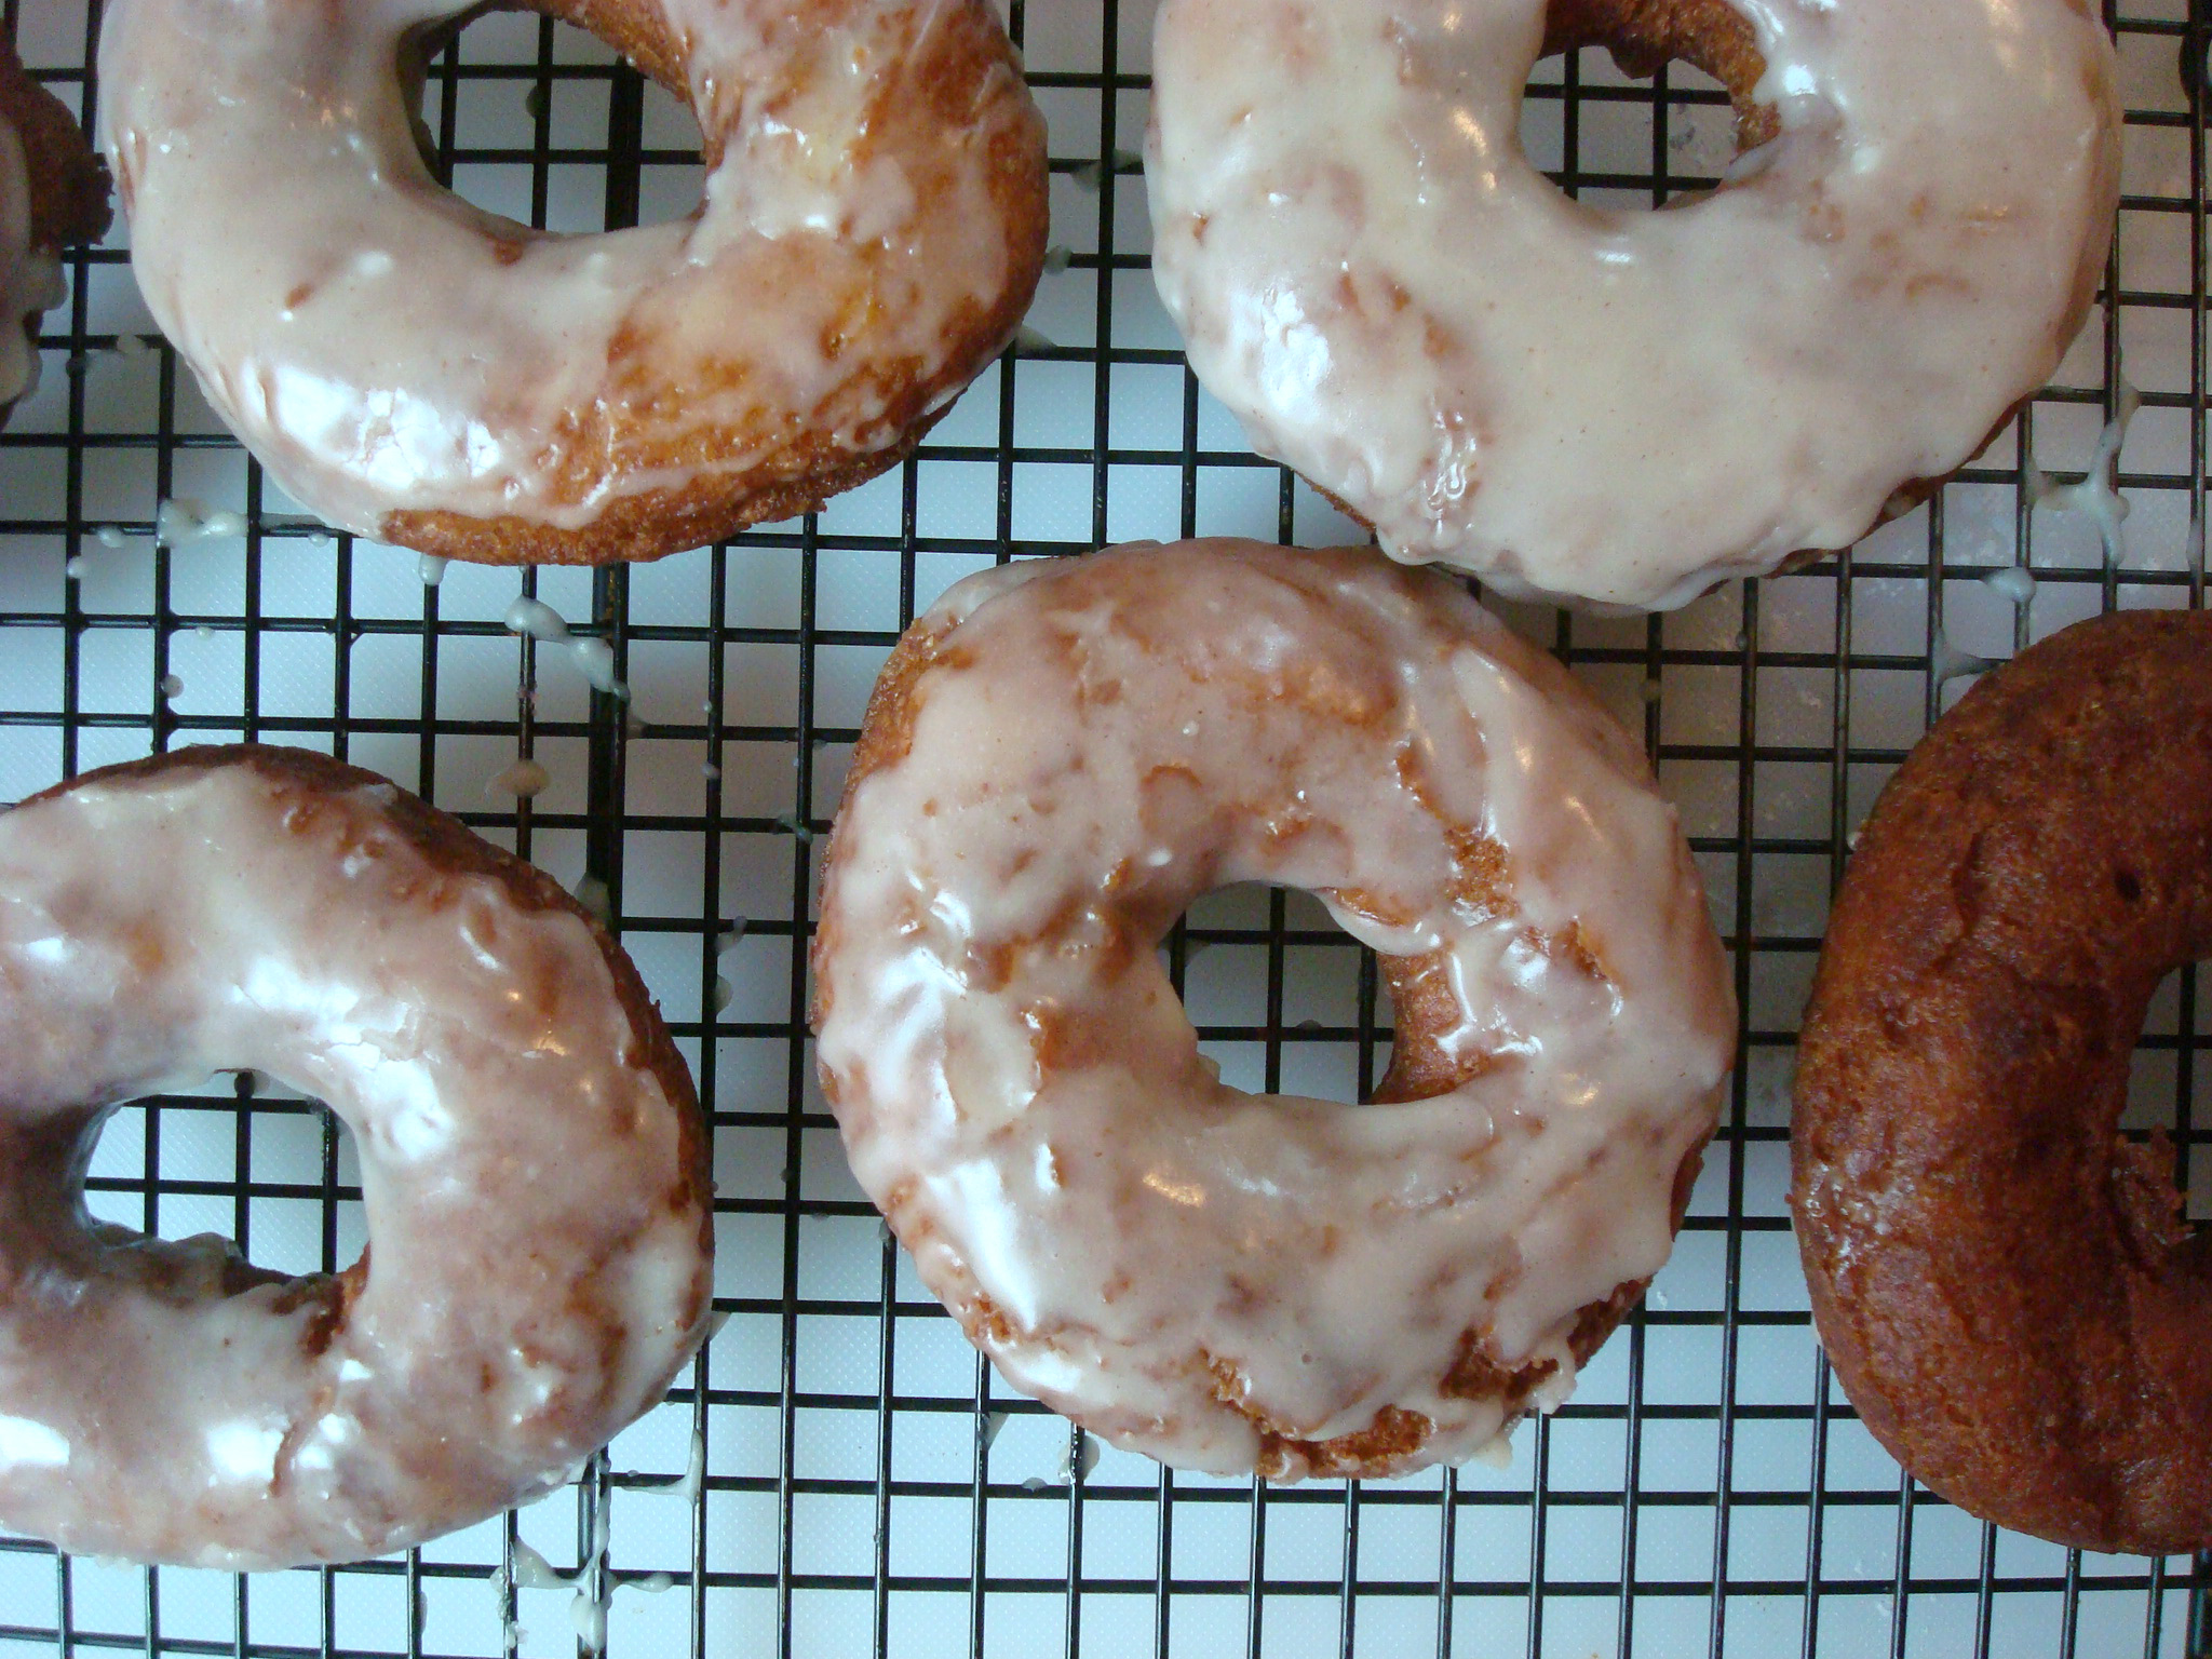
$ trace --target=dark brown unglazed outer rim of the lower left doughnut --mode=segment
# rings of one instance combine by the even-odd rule
[[[659,1079],[661,1093],[677,1115],[677,1164],[681,1179],[670,1192],[670,1210],[699,1208],[699,1243],[701,1250],[712,1254],[714,1179],[706,1144],[706,1119],[699,1115],[699,1093],[692,1088],[690,1068],[684,1064],[684,1055],[677,1053],[675,1037],[668,1035],[668,1026],[661,1022],[646,982],[637,978],[637,969],[622,945],[615,942],[615,936],[535,865],[515,858],[504,847],[491,845],[460,818],[400,790],[392,779],[347,765],[345,761],[334,761],[314,750],[279,748],[272,743],[197,743],[192,748],[168,750],[166,754],[148,754],[144,761],[124,761],[122,765],[82,772],[66,783],[33,794],[29,801],[69,794],[86,783],[153,781],[173,772],[212,772],[226,765],[252,768],[279,787],[296,792],[307,801],[385,787],[392,792],[392,799],[380,803],[383,816],[434,869],[451,876],[493,880],[520,909],[568,911],[591,929],[599,956],[606,960],[608,978],[615,982],[615,1000],[630,1020],[630,1060],[646,1066]],[[356,1263],[356,1270],[349,1272],[354,1276],[341,1283],[345,1298],[358,1290],[365,1267]],[[706,1310],[697,1312],[703,1314]]]

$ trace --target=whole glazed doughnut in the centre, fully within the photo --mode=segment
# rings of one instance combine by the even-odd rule
[[[1383,951],[1378,1104],[1201,1060],[1155,947],[1237,880]],[[1626,732],[1365,549],[951,588],[869,703],[814,973],[854,1172],[1006,1380],[1276,1480],[1462,1460],[1562,1400],[1668,1256],[1734,1033]]]

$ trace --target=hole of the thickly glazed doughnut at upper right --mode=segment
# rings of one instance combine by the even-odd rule
[[[1752,24],[1725,0],[1551,0],[1544,58],[1586,46],[1604,46],[1624,80],[1652,80],[1674,66],[1659,93],[1608,86],[1604,69],[1586,64],[1573,153],[1564,144],[1559,71],[1540,69],[1531,80],[1522,148],[1586,201],[1659,206],[1703,195],[1734,157],[1781,133],[1774,108],[1754,100],[1765,60]],[[1725,95],[1728,115],[1714,93]],[[1650,186],[1593,186],[1590,175],[1650,177]]]

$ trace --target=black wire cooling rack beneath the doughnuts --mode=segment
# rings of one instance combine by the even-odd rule
[[[4,20],[91,115],[97,4]],[[918,606],[1009,555],[1349,533],[1248,453],[1152,296],[1148,9],[1013,4],[1053,150],[1018,347],[896,473],[655,566],[436,584],[325,535],[148,338],[122,232],[73,261],[44,385],[0,436],[0,796],[179,741],[290,741],[602,880],[714,1115],[726,1323],[573,1489],[398,1559],[237,1579],[0,1540],[0,1655],[2201,1655],[2205,1557],[1997,1533],[1880,1453],[1818,1358],[1783,1210],[1796,1015],[1882,779],[1982,659],[2101,608],[2203,604],[2208,11],[2108,22],[2119,243],[2057,385],[1984,458],[1856,551],[1670,617],[1506,606],[1644,732],[1734,956],[1743,1053],[1677,1256],[1575,1400],[1524,1425],[1511,1469],[1405,1482],[1175,1475],[1011,1396],[852,1183],[801,1024],[818,838]],[[697,199],[684,111],[529,13],[473,22],[425,117],[442,175],[531,223]],[[1537,71],[1524,133],[1564,188],[1626,206],[1728,159],[1710,82],[1630,84],[1595,51]],[[2128,385],[2132,515],[2108,544],[2042,471],[2081,480]],[[157,546],[166,500],[241,522],[184,515]],[[628,701],[511,637],[518,591],[604,637]],[[518,754],[549,787],[487,794]],[[1374,962],[1312,900],[1210,896],[1170,953],[1230,1082],[1352,1099],[1387,1062]],[[2192,969],[2161,991],[2126,1121],[2172,1135],[2201,1221],[2199,1002]],[[252,1077],[122,1110],[88,1192],[288,1270],[349,1261],[358,1199],[330,1115]]]

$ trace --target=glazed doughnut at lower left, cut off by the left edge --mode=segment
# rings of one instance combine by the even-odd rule
[[[699,1104],[549,876],[246,745],[7,812],[0,894],[0,1524],[349,1562],[551,1491],[661,1398],[710,1305]],[[248,1066],[354,1130],[341,1274],[84,1214],[113,1106]]]

